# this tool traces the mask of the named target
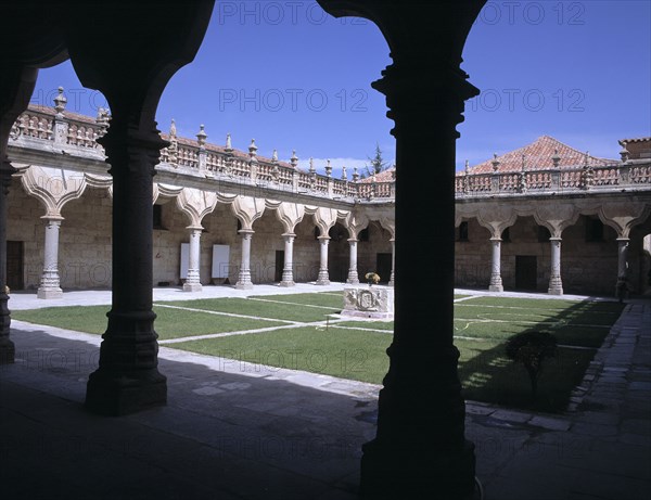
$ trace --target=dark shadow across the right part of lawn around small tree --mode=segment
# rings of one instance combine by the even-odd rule
[[[487,304],[486,300],[483,303]],[[535,399],[524,366],[507,357],[506,341],[484,341],[481,335],[476,341],[456,339],[455,344],[461,351],[459,377],[463,397],[533,411],[564,411],[573,389],[580,384],[597,348],[610,331],[599,326],[614,324],[623,308],[624,305],[617,303],[582,302],[559,309],[553,320],[560,326],[532,325],[524,330],[548,331],[559,342],[557,356],[542,362]],[[590,329],[588,325],[595,326]],[[472,337],[472,329],[467,330],[464,335]]]

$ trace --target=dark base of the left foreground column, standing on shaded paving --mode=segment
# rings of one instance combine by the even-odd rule
[[[112,373],[101,368],[91,373],[86,408],[93,413],[119,416],[167,403],[167,377],[158,370]]]

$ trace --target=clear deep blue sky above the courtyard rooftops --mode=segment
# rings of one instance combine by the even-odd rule
[[[617,140],[651,136],[651,2],[492,1],[475,22],[462,68],[482,90],[465,106],[457,168],[552,136],[617,158]],[[158,128],[258,154],[296,150],[322,168],[362,168],[375,144],[392,163],[393,123],[370,87],[391,64],[370,22],[335,20],[314,1],[217,1],[195,60],[167,86]],[[423,61],[423,66],[426,61]],[[434,68],[435,70],[436,68]],[[33,102],[51,105],[63,86],[68,110],[94,115],[105,101],[72,65],[42,69]],[[436,119],[433,117],[433,119]],[[436,162],[424,145],[423,159]]]

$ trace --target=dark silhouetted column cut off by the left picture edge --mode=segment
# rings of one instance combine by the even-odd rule
[[[13,363],[16,350],[10,338],[11,312],[7,293],[7,196],[14,171],[9,159],[0,151],[0,364]]]

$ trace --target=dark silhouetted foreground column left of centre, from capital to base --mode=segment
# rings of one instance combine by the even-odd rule
[[[90,374],[86,406],[111,415],[165,405],[167,380],[158,372],[153,286],[153,175],[161,139],[156,123],[133,124],[112,105],[113,119],[99,139],[113,176],[113,290],[100,368]]]

